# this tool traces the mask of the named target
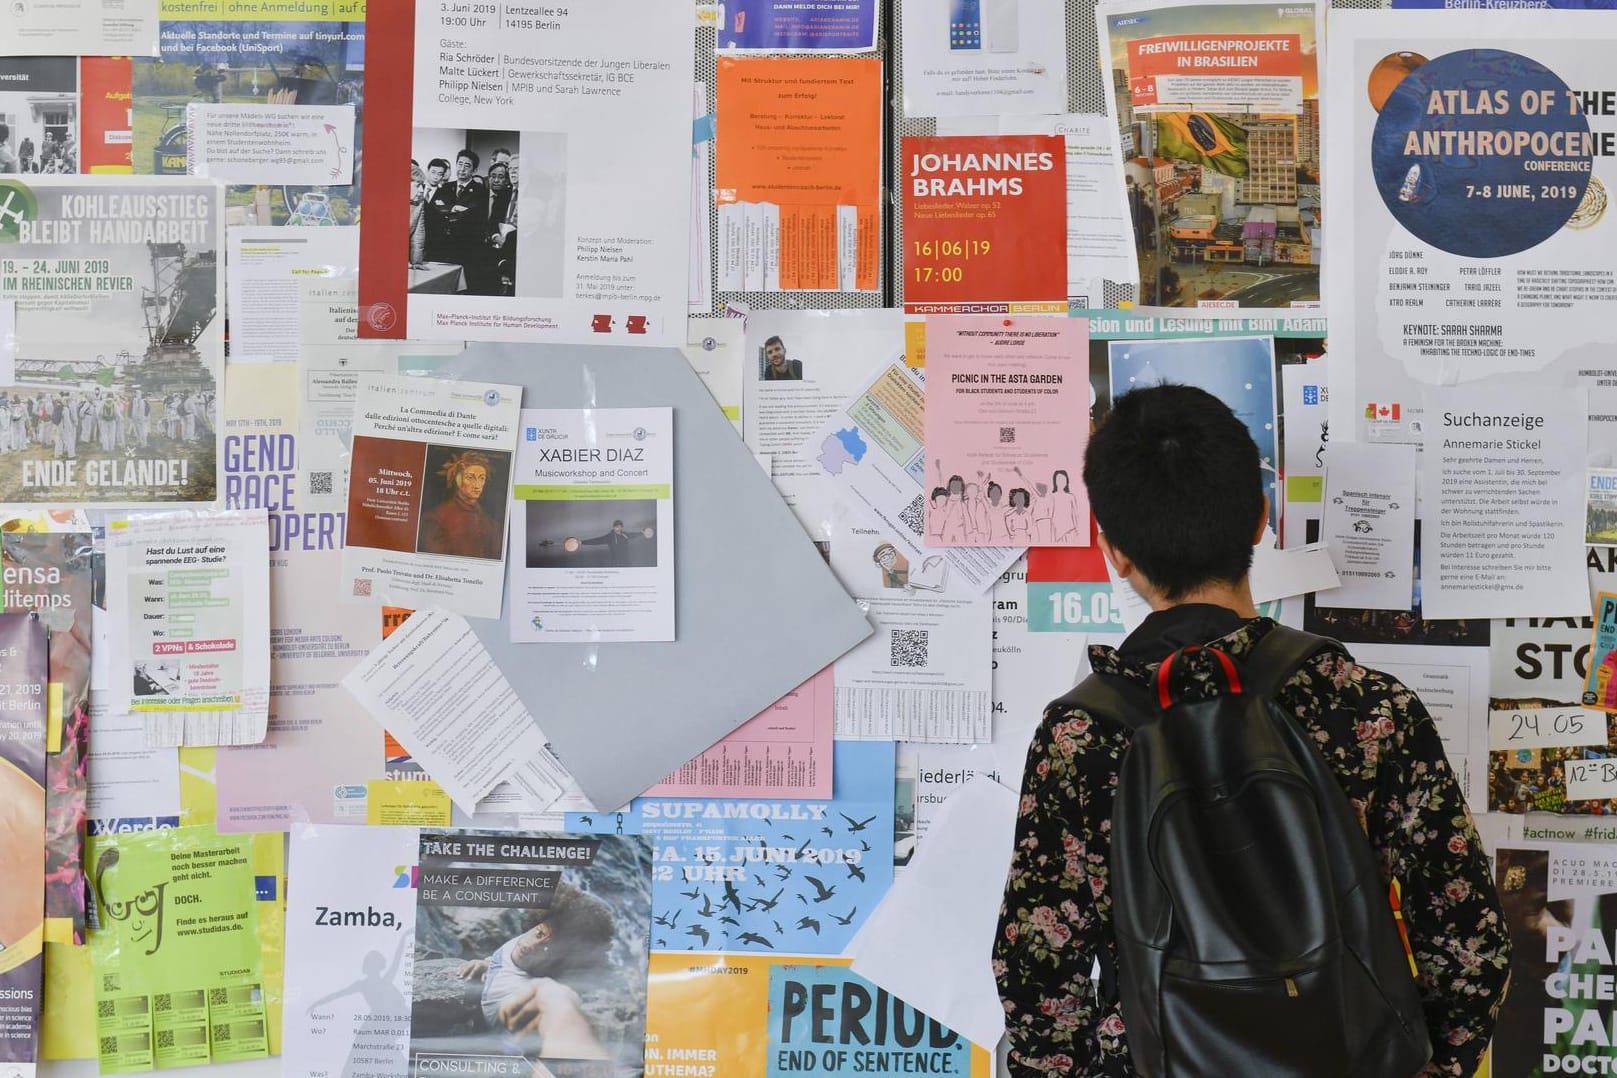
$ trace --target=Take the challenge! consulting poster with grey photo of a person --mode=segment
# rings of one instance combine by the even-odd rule
[[[640,836],[422,831],[411,1073],[640,1073],[650,926]]]

